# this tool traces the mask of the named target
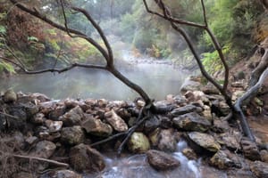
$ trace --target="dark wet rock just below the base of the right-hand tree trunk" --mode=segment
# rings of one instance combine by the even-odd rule
[[[245,158],[248,158],[253,161],[261,160],[261,155],[255,142],[251,142],[244,137],[241,139],[240,145],[243,150]]]

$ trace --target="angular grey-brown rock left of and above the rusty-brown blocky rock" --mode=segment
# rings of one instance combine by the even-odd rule
[[[60,117],[60,120],[63,121],[64,126],[73,126],[80,125],[83,117],[83,110],[80,108],[80,106],[77,106],[71,109],[69,112],[66,112],[62,117]]]

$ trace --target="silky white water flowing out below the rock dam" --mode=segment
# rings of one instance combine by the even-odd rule
[[[213,167],[203,166],[199,160],[188,160],[181,150],[187,147],[187,143],[180,141],[177,151],[172,153],[174,158],[180,160],[180,166],[168,171],[156,171],[148,165],[144,154],[124,158],[105,158],[105,170],[99,174],[85,174],[84,178],[227,178],[227,175],[215,170]]]

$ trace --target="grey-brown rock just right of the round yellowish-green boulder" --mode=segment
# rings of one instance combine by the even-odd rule
[[[175,131],[171,129],[162,129],[159,133],[157,148],[163,151],[173,152],[177,149],[177,138]]]

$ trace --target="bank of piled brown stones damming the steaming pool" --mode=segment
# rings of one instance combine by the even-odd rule
[[[235,88],[242,91],[243,85],[237,83]],[[181,95],[155,101],[155,106],[170,110],[147,118],[130,137],[122,155],[144,153],[145,162],[163,177],[163,172],[169,174],[184,166],[184,161],[170,154],[178,151],[178,142],[188,142],[180,150],[187,158],[183,160],[202,163],[196,166],[197,174],[188,169],[188,174],[181,176],[208,177],[202,173],[202,165],[224,170],[216,177],[267,177],[268,140],[264,129],[253,128],[257,131],[256,144],[247,141],[237,123],[225,119],[230,109],[222,96],[210,85],[200,85],[197,78],[181,91]],[[238,96],[235,92],[233,100]],[[13,91],[3,93],[0,102],[2,177],[81,177],[85,173],[86,177],[102,177],[109,165],[103,155],[111,151],[115,154],[124,137],[95,143],[127,132],[144,106],[140,100],[53,101],[40,93]],[[255,99],[251,105],[255,107],[248,107],[247,114],[252,118],[268,103]],[[264,113],[257,115],[262,115],[263,121],[267,119]]]

